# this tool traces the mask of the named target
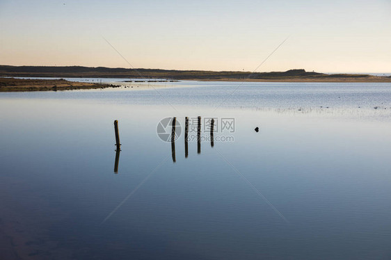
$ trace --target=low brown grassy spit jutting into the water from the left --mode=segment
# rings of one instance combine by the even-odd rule
[[[82,83],[65,79],[14,79],[0,78],[0,92],[88,90],[117,88],[112,84]]]

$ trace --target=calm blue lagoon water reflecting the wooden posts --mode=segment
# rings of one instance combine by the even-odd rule
[[[390,83],[121,85],[0,93],[7,259],[390,259]]]

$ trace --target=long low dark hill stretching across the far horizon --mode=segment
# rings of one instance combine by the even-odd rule
[[[101,78],[163,78],[182,80],[337,80],[337,79],[381,79],[366,74],[323,74],[305,70],[286,72],[213,72],[203,70],[156,70],[126,69],[123,67],[82,67],[82,66],[9,66],[0,65],[0,76],[39,76],[39,77],[101,77]],[[388,78],[389,79],[389,78]]]

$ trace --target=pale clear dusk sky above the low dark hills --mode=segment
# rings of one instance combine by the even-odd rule
[[[391,72],[391,1],[0,0],[1,65]]]

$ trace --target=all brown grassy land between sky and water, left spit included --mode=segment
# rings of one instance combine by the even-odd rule
[[[391,76],[368,74],[323,74],[305,70],[286,72],[212,72],[202,70],[152,70],[109,67],[44,67],[0,65],[0,92],[58,91],[116,88],[117,85],[71,82],[65,79],[15,79],[13,77],[77,77],[119,79],[170,79],[193,81],[255,81],[255,82],[391,82]]]

